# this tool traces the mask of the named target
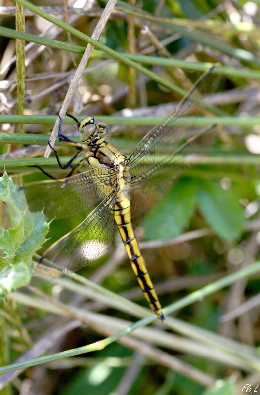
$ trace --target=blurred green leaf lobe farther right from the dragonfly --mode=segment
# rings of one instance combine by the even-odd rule
[[[230,191],[216,182],[198,181],[199,209],[211,228],[221,238],[236,240],[244,224],[243,208]]]

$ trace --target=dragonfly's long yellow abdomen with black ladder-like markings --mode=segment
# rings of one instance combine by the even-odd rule
[[[127,197],[124,197],[122,195],[123,194],[119,194],[116,203],[111,211],[118,226],[119,233],[125,245],[127,254],[129,256],[132,269],[135,273],[135,276],[137,277],[140,287],[142,288],[144,296],[147,299],[150,308],[163,321],[164,315],[162,312],[161,304],[154,290],[144,258],[142,256],[139,244],[136,240],[132,228],[130,201]]]

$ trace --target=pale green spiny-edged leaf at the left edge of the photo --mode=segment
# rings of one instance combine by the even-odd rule
[[[27,284],[33,269],[33,254],[45,242],[49,230],[43,212],[31,213],[21,187],[6,173],[0,177],[0,200],[5,203],[10,226],[0,235],[0,295]]]

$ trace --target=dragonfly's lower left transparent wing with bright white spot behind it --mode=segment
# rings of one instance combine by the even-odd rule
[[[54,263],[49,263],[50,266],[63,273],[74,272],[87,266],[109,247],[114,237],[111,206],[115,198],[114,193],[106,197],[81,224],[43,254],[43,258]]]

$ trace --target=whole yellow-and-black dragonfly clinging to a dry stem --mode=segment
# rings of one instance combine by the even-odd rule
[[[192,143],[215,127],[211,125],[187,138],[178,121],[194,104],[195,92],[201,85],[207,87],[210,74],[211,70],[195,82],[177,108],[142,138],[129,157],[106,141],[104,122],[93,117],[80,122],[67,114],[78,126],[78,143],[62,134],[60,118],[58,138],[75,147],[77,152],[62,164],[55,148],[49,145],[59,167],[71,166],[72,170],[65,178],[55,179],[40,168],[52,179],[23,186],[29,207],[43,209],[49,219],[74,216],[97,204],[76,228],[47,249],[42,260],[46,258],[62,273],[77,271],[108,248],[116,224],[143,294],[161,321],[165,316],[135,237],[132,218],[155,205],[167,193],[173,184],[172,165]],[[73,165],[79,157],[81,160]],[[89,169],[79,172],[84,163]]]

